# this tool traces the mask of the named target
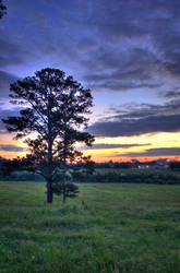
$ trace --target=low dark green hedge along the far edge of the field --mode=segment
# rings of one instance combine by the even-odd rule
[[[180,185],[180,174],[172,170],[108,170],[99,169],[93,175],[74,174],[74,182],[83,183],[156,183]],[[31,171],[13,171],[10,176],[0,176],[7,181],[44,181],[40,175]]]

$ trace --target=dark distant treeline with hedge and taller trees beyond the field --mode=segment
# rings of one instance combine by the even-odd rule
[[[29,170],[16,170],[20,161],[0,158],[0,180],[11,181],[45,181],[43,176]],[[75,166],[75,165],[74,165]],[[72,167],[72,166],[71,166]],[[96,163],[94,173],[83,170],[73,173],[74,182],[94,183],[156,183],[179,185],[179,162],[169,163],[169,170],[135,169],[131,163]]]

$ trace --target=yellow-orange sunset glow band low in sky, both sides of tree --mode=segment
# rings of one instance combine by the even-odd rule
[[[13,140],[12,134],[1,134],[0,145],[14,145],[19,147],[26,147],[23,140]],[[158,149],[175,149],[180,147],[180,132],[176,133],[156,133],[156,134],[142,134],[135,136],[118,136],[118,138],[96,138],[95,144],[112,144],[117,147],[112,149],[87,149],[82,151],[85,156],[91,155],[92,159],[97,163],[103,162],[131,162],[132,159],[137,159],[140,162],[156,161],[158,158],[167,158],[169,161],[180,161],[180,155],[167,155],[167,156],[153,156],[143,155],[143,153],[148,153],[151,150]],[[132,145],[133,144],[133,145]],[[119,145],[119,146],[118,146]],[[125,147],[124,147],[125,146]],[[81,147],[81,145],[77,146]],[[17,156],[23,157],[28,151],[23,152],[10,152],[0,151],[0,156],[4,158],[15,158]],[[121,154],[123,156],[121,156]],[[137,156],[131,156],[135,154]],[[127,156],[125,156],[127,155]]]

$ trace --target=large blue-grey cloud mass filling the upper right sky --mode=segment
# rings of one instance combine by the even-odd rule
[[[178,1],[96,1],[93,17],[104,45],[83,60],[84,79],[98,90],[125,91],[158,87],[165,74],[177,75],[179,8]]]

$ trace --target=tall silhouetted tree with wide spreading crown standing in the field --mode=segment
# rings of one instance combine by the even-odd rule
[[[17,117],[2,119],[9,132],[16,132],[16,139],[25,139],[31,154],[28,161],[47,181],[47,202],[52,202],[53,177],[57,168],[83,157],[74,144],[92,145],[94,136],[81,129],[87,126],[89,107],[93,105],[91,90],[65,76],[58,69],[43,69],[10,85],[11,103],[24,106]],[[35,136],[36,135],[36,136]],[[65,193],[64,193],[65,194]],[[65,198],[65,197],[64,197]]]

